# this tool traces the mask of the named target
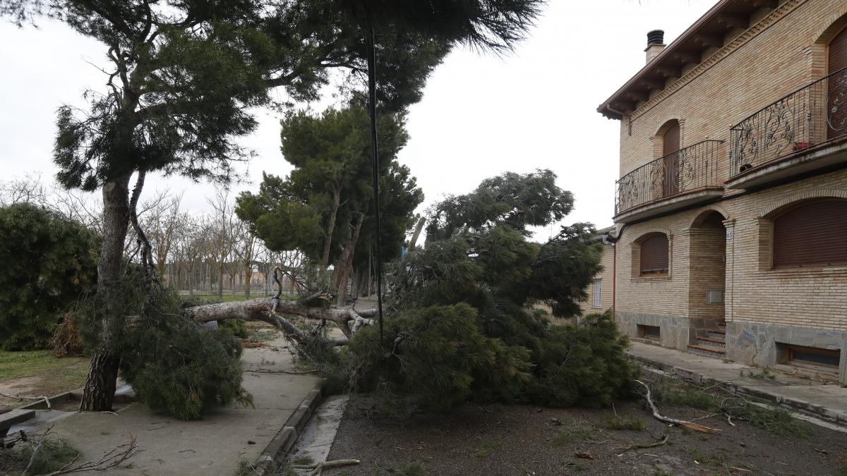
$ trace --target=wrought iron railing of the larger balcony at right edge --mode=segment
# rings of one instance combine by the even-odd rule
[[[847,136],[847,68],[773,102],[729,136],[730,177]]]

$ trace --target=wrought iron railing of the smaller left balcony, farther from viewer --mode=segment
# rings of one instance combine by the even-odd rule
[[[670,196],[721,186],[717,161],[722,143],[697,142],[624,175],[615,188],[615,214]]]

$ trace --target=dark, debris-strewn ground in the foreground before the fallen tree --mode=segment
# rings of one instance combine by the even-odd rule
[[[407,418],[375,408],[368,397],[352,397],[328,460],[356,458],[362,464],[325,474],[847,474],[847,434],[813,425],[807,438],[777,436],[715,416],[697,423],[722,431],[705,434],[668,427],[639,401],[619,402],[615,411],[642,420],[642,430],[608,429],[612,408],[467,405],[449,415]],[[709,414],[688,407],[661,410],[684,419]],[[663,434],[669,435],[666,445],[622,449],[655,443]]]

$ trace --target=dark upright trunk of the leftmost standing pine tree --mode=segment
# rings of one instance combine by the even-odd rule
[[[103,184],[102,245],[97,262],[97,293],[102,296],[103,317],[97,353],[91,358],[86,388],[80,401],[81,412],[103,412],[112,409],[115,380],[118,379],[120,355],[114,349],[117,335],[123,329],[120,278],[124,261],[124,241],[130,224],[130,176]]]

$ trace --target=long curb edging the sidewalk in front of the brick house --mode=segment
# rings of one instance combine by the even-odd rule
[[[683,379],[695,384],[701,385],[722,385],[726,390],[736,395],[752,396],[759,400],[767,401],[778,407],[785,407],[795,412],[804,413],[814,418],[820,418],[828,423],[835,423],[840,427],[847,428],[847,412],[839,412],[831,408],[822,407],[809,401],[781,396],[767,390],[754,389],[745,385],[739,385],[732,380],[713,379],[704,374],[694,372],[687,368],[676,367],[667,363],[662,363],[651,359],[650,357],[636,356],[627,352],[629,358],[644,363],[652,368],[656,368],[665,374],[670,374],[679,379]]]

